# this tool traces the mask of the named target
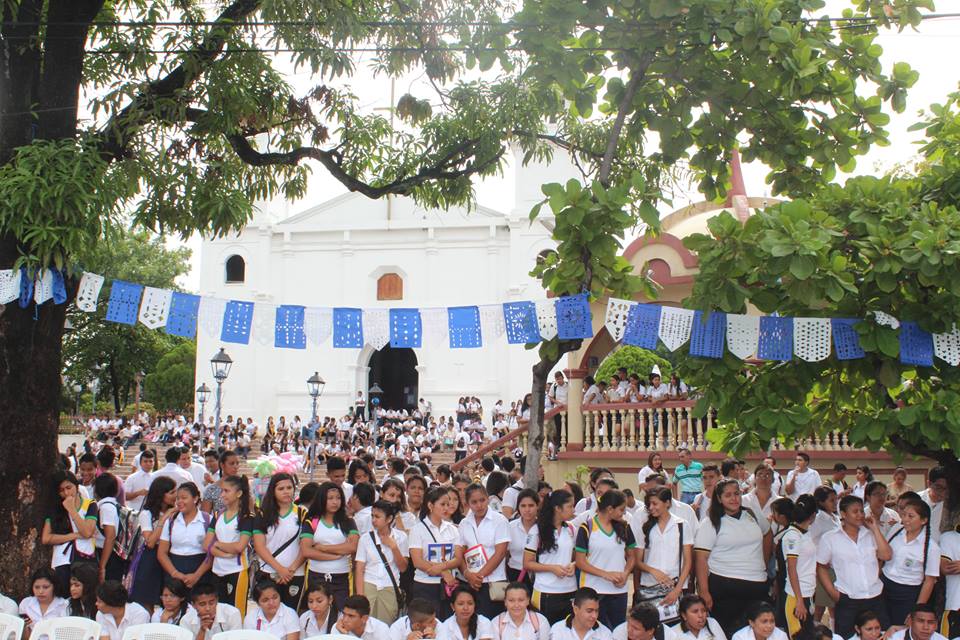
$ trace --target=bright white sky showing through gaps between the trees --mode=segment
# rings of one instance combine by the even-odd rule
[[[956,2],[956,0],[953,0]],[[938,8],[941,12],[949,10],[947,0],[940,0]],[[958,3],[960,4],[960,3]],[[848,0],[828,0],[827,11],[830,15],[840,15],[844,7],[849,7]],[[824,12],[818,12],[818,15]],[[948,94],[957,91],[960,81],[960,70],[956,56],[960,52],[960,18],[925,21],[916,30],[903,33],[884,32],[877,42],[883,47],[882,62],[885,71],[892,69],[895,62],[907,62],[920,74],[920,79],[908,92],[907,108],[903,113],[893,113],[887,130],[890,135],[890,146],[874,147],[866,155],[858,158],[857,167],[852,175],[882,174],[897,164],[907,162],[918,154],[917,141],[922,132],[909,132],[908,128],[920,120],[920,111],[932,103],[942,103]],[[410,87],[416,87],[420,79],[413,77],[398,81],[396,96],[403,95]],[[308,73],[291,74],[290,82],[295,86],[307,87],[311,84]],[[372,73],[364,73],[363,66],[358,65],[358,74],[351,78],[351,89],[359,96],[365,108],[386,110],[390,104],[389,85],[382,78],[374,78]],[[418,95],[422,95],[418,92]],[[748,195],[770,195],[764,181],[766,168],[760,163],[745,164],[743,167],[744,179]],[[837,182],[843,182],[849,174],[837,176]],[[338,182],[325,175],[319,165],[314,166],[314,177],[310,182],[307,196],[294,203],[293,211],[303,211],[320,202],[329,200],[346,189]],[[498,211],[509,211],[513,208],[514,180],[513,168],[508,166],[502,177],[480,182],[476,186],[477,202]],[[673,208],[686,206],[691,202],[702,200],[702,196],[694,191],[681,192],[673,200]],[[661,216],[670,213],[671,208],[664,206]],[[182,244],[179,240],[171,239],[170,244]],[[199,266],[201,240],[194,236],[187,242],[193,250],[191,272],[180,279],[179,284],[188,291],[197,291],[199,288]]]

